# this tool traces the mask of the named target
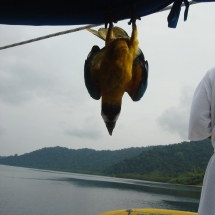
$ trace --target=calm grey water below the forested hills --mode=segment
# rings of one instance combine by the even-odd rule
[[[197,211],[201,189],[0,165],[1,215],[97,215],[124,208]]]

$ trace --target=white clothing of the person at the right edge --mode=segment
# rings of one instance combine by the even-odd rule
[[[215,68],[205,74],[195,90],[190,110],[188,138],[196,141],[211,136],[215,149],[214,127]],[[215,215],[215,155],[211,157],[206,169],[198,215]]]

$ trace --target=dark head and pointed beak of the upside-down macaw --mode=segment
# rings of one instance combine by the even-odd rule
[[[102,104],[101,115],[110,135],[112,135],[113,129],[115,128],[120,111],[121,105]]]

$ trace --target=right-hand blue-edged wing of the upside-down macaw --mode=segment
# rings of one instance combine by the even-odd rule
[[[127,88],[127,93],[133,101],[139,101],[144,95],[148,82],[148,62],[140,49],[133,61],[132,81]]]

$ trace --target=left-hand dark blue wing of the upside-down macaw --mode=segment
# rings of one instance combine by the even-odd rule
[[[104,49],[100,49],[98,46],[93,46],[84,64],[85,85],[90,96],[96,100],[99,100],[101,95],[98,80],[94,74],[96,74],[96,71],[100,68],[103,54]]]

